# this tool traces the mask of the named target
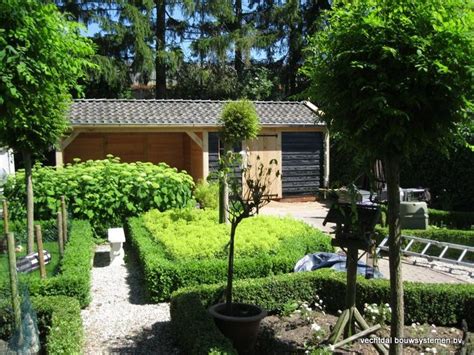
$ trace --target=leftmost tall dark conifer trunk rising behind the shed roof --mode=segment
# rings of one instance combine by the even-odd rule
[[[156,5],[156,58],[155,58],[155,98],[166,98],[166,0],[155,0]]]

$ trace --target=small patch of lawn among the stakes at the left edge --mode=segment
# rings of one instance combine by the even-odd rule
[[[51,254],[51,261],[46,265],[46,275],[51,277],[56,275],[59,269],[59,246],[57,242],[44,242],[43,249]],[[35,251],[37,248],[35,247]],[[17,261],[19,258],[26,255],[26,248],[24,247],[21,253],[16,254]],[[29,273],[18,273],[20,280],[28,282],[29,279],[37,279],[40,277],[39,269]],[[0,254],[0,284],[9,282],[10,273],[8,271],[8,255]]]

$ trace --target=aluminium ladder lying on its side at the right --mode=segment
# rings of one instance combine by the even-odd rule
[[[464,261],[464,257],[466,256],[467,253],[474,253],[474,247],[469,247],[469,246],[461,245],[461,244],[439,242],[437,240],[418,238],[418,237],[413,237],[413,236],[408,236],[408,235],[402,235],[402,239],[405,239],[406,241],[408,241],[408,244],[406,245],[406,247],[402,248],[402,250],[401,250],[402,253],[405,254],[405,255],[423,257],[423,258],[427,258],[429,261],[438,260],[438,261],[442,261],[442,262],[445,262],[445,263],[463,265],[463,266],[468,266],[468,267],[474,268],[474,263],[473,262]],[[380,252],[380,250],[388,251],[388,246],[386,245],[387,241],[388,241],[388,237],[386,237],[382,241],[382,243],[379,244],[379,246],[377,247],[377,250],[376,250],[377,254]],[[413,244],[415,242],[417,244],[425,244],[425,247],[423,248],[423,250],[420,253],[410,250],[410,248],[413,246]],[[437,246],[437,247],[441,248],[441,252],[438,256],[427,254],[428,249],[431,246]],[[459,257],[457,259],[447,258],[447,257],[445,257],[445,254],[448,251],[448,249],[460,250],[461,255],[459,255]],[[471,271],[470,274],[472,276],[472,271]]]

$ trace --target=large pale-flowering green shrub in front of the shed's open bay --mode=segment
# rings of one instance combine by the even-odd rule
[[[123,225],[129,216],[152,208],[183,207],[191,200],[191,176],[161,163],[120,163],[119,158],[67,164],[62,169],[35,166],[35,216],[53,218],[60,196],[66,196],[71,217],[88,219],[97,235]],[[24,173],[5,186],[12,219],[25,212]]]

